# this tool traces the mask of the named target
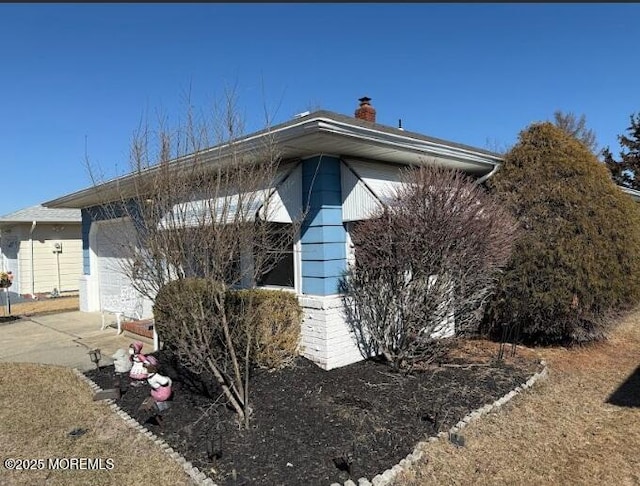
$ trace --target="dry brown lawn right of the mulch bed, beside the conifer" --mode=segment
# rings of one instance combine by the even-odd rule
[[[396,484],[640,484],[640,407],[607,403],[640,364],[640,311],[605,343],[535,351],[546,381],[464,429],[465,447],[427,445]]]

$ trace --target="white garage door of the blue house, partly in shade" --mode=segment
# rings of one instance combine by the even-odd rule
[[[135,241],[133,224],[129,220],[95,224],[100,309],[123,312],[129,318],[151,317],[152,303],[134,289],[126,273],[132,242]]]

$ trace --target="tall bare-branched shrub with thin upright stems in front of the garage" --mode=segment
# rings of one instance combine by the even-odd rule
[[[116,235],[121,272],[140,295],[154,301],[169,282],[197,277],[211,282],[195,302],[188,293],[164,299],[164,315],[190,318],[163,326],[160,338],[193,372],[216,377],[240,421],[249,422],[251,330],[234,329],[224,303],[224,288],[254,287],[289,251],[299,227],[270,222],[278,209],[273,188],[291,168],[283,167],[276,143],[265,130],[259,142],[242,140],[243,124],[233,92],[210,119],[189,110],[184,124],[168,130],[163,123],[134,136],[131,172],[116,183],[98,184],[103,204],[95,212],[131,221],[131,235]],[[213,148],[211,148],[213,147]],[[299,216],[301,218],[301,215]],[[250,305],[250,300],[248,305]],[[169,304],[167,304],[169,302]],[[203,305],[212,306],[205,312]],[[250,313],[250,310],[247,312]],[[209,317],[214,313],[215,321]],[[234,337],[244,333],[244,355]],[[222,345],[213,344],[217,339]]]

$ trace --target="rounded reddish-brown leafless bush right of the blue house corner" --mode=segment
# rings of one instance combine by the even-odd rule
[[[355,263],[342,282],[362,354],[395,368],[436,358],[475,332],[516,231],[496,200],[460,172],[407,170],[373,219],[355,225]]]

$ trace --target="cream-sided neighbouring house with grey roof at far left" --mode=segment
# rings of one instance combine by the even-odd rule
[[[30,296],[77,292],[81,223],[79,209],[41,205],[0,217],[0,269],[14,275],[10,290]]]

